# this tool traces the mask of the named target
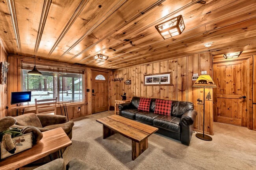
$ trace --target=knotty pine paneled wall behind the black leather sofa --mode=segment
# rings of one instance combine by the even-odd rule
[[[114,78],[124,78],[123,81],[113,81],[113,99],[121,99],[122,93],[126,93],[127,99],[133,96],[160,98],[178,101],[190,101],[195,105],[197,117],[194,123],[195,130],[203,130],[203,105],[197,104],[197,99],[203,100],[203,88],[193,88],[193,73],[201,74],[207,71],[212,77],[213,57],[210,53],[202,53],[187,57],[176,58],[161,62],[144,64],[131,68],[124,68],[114,72]],[[144,75],[152,73],[171,72],[171,86],[144,86]],[[125,80],[131,80],[130,85]],[[205,96],[212,88],[205,89]],[[112,100],[112,105],[113,100]],[[205,131],[213,135],[213,102],[205,102]]]

